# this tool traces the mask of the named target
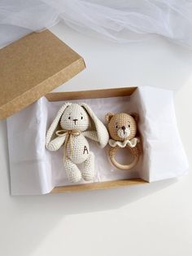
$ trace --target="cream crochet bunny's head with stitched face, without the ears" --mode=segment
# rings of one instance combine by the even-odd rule
[[[71,104],[64,110],[60,126],[64,130],[85,131],[89,127],[89,115],[80,104]]]

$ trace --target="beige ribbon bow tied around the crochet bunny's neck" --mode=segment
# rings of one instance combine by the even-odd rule
[[[72,135],[73,136],[81,135],[81,131],[80,130],[57,130],[55,134],[58,135],[59,137],[66,136],[64,141],[64,147],[63,147],[64,159],[66,159],[67,157],[68,143],[70,146],[70,157],[72,157],[72,151],[73,151]]]

